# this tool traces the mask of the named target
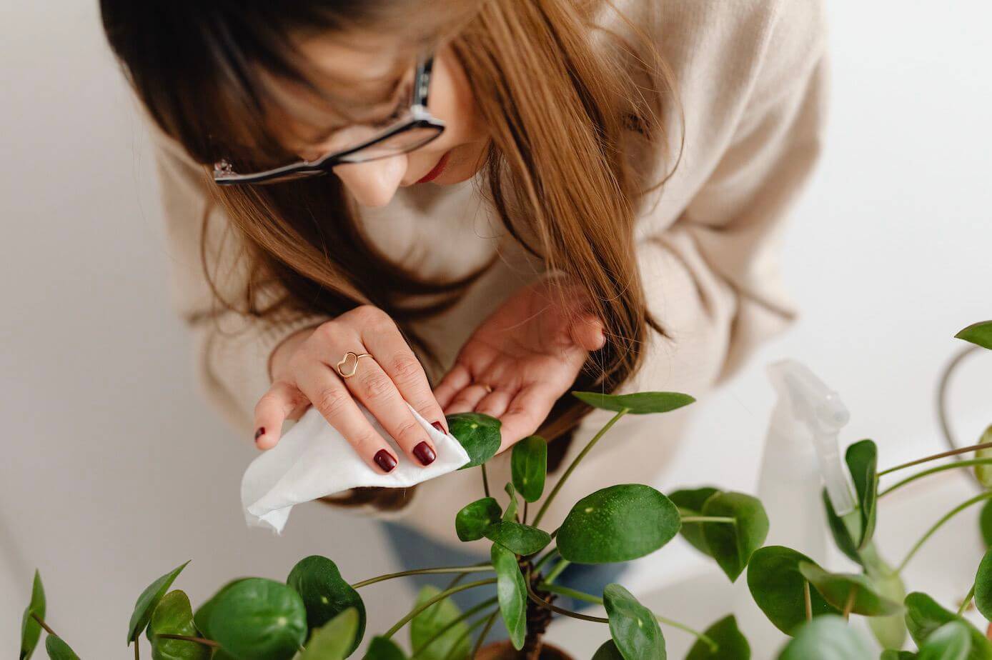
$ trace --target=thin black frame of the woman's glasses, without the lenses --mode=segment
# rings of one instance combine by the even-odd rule
[[[362,142],[353,147],[348,147],[337,152],[331,152],[321,156],[316,161],[301,161],[299,163],[291,163],[290,165],[282,165],[280,167],[274,167],[272,169],[265,169],[262,171],[239,174],[233,171],[231,165],[226,161],[221,161],[213,166],[213,180],[219,185],[237,185],[244,183],[266,183],[273,182],[272,179],[282,179],[286,176],[291,178],[298,178],[297,176],[292,176],[293,174],[300,174],[304,176],[310,175],[320,175],[326,174],[331,171],[334,165],[341,165],[343,163],[367,163],[369,161],[377,161],[379,159],[390,158],[393,156],[398,156],[400,154],[406,154],[414,150],[420,149],[425,145],[434,142],[440,134],[444,132],[444,122],[440,119],[435,118],[431,112],[428,110],[428,93],[431,87],[431,71],[434,67],[434,55],[427,55],[421,58],[417,63],[417,71],[414,74],[414,89],[413,89],[413,99],[410,105],[410,110],[404,119],[393,126],[387,127],[379,135],[369,138],[365,142]],[[395,154],[383,154],[381,156],[373,156],[367,159],[361,159],[358,161],[348,160],[348,156],[360,152],[364,149],[376,145],[380,142],[384,142],[391,138],[405,133],[407,131],[415,129],[434,129],[434,135],[429,137],[427,140],[415,143],[412,146],[396,152]],[[288,179],[287,179],[288,180]]]

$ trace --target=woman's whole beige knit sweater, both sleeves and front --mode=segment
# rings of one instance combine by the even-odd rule
[[[653,337],[643,370],[622,391],[677,390],[698,398],[736,373],[756,345],[783,331],[796,315],[778,262],[790,206],[820,153],[829,82],[823,9],[819,0],[620,4],[642,25],[655,26],[678,77],[685,121],[680,125],[675,107],[667,108],[674,122],[670,135],[678,138],[684,130],[682,163],[660,202],[648,200],[638,225],[638,261],[651,310],[673,339]],[[658,11],[653,22],[639,14],[649,11]],[[228,312],[219,319],[224,331],[214,329],[199,261],[208,198],[202,168],[152,130],[173,260],[173,304],[195,338],[198,384],[250,441],[254,406],[270,385],[267,361],[273,349],[326,317],[273,324]],[[362,217],[387,254],[425,273],[461,275],[495,251],[502,254],[454,308],[417,326],[445,365],[474,329],[474,319],[541,270],[493,219],[477,183],[401,188],[388,206],[366,209]],[[243,271],[232,267],[237,237],[226,232],[224,238],[227,220],[219,209],[212,214],[209,265],[221,275],[225,294],[234,297],[244,282]],[[595,489],[664,479],[665,457],[691,410],[622,419],[569,480],[548,524],[557,525],[575,499]],[[582,422],[565,464],[608,416],[594,412]],[[490,464],[500,495],[508,459],[506,452]],[[244,467],[230,470],[240,473]],[[549,489],[556,479],[550,477]],[[478,496],[478,471],[456,472],[422,485],[405,508],[390,515],[457,543],[454,514]]]

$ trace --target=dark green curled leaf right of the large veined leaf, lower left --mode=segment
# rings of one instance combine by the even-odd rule
[[[286,584],[303,599],[310,630],[326,624],[348,607],[354,607],[358,614],[357,634],[354,646],[348,649],[345,657],[351,655],[365,634],[365,604],[358,592],[341,578],[337,565],[326,557],[310,555],[293,567]]]

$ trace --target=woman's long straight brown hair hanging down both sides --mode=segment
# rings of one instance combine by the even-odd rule
[[[610,0],[425,4],[101,0],[101,10],[140,100],[205,165],[204,176],[221,158],[248,168],[289,156],[266,123],[271,108],[260,72],[317,91],[288,38],[292,31],[374,26],[404,31],[419,47],[449,41],[491,134],[482,192],[548,271],[570,275],[588,293],[607,343],[576,386],[612,391],[639,368],[647,333],[665,334],[647,309],[633,230],[640,202],[675,169],[652,183],[656,165],[671,162],[662,110],[674,98],[674,76],[647,32]],[[614,12],[621,29],[600,25],[601,12]],[[635,167],[635,153],[652,158]],[[410,323],[453,305],[484,272],[435,280],[395,264],[363,234],[334,176],[207,185],[244,239],[250,278],[242,299],[229,301],[206,276],[220,304],[241,313],[337,315],[374,304],[430,362],[429,346]],[[261,305],[259,292],[274,282],[285,293]],[[410,302],[424,296],[430,303]],[[585,411],[562,397],[542,434],[557,437]]]

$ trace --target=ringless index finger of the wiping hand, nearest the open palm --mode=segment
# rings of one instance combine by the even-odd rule
[[[391,330],[363,332],[362,342],[366,350],[376,356],[376,362],[396,385],[401,398],[410,403],[437,430],[447,433],[444,413],[431,390],[424,366],[410,350],[399,329],[394,325]],[[406,406],[403,407],[406,409]]]

